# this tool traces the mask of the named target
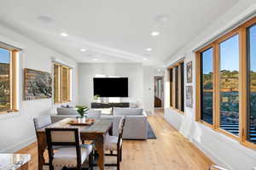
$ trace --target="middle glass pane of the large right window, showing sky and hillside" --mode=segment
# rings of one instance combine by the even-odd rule
[[[239,134],[239,36],[219,44],[220,127]]]

